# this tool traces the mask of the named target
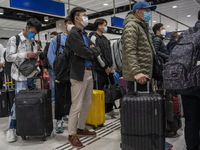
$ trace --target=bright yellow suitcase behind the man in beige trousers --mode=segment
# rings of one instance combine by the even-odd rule
[[[105,122],[105,93],[102,90],[93,90],[92,105],[90,107],[86,124],[103,126]]]

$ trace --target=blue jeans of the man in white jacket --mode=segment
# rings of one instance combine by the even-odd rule
[[[20,90],[27,89],[27,81],[15,81],[15,94],[18,94]],[[16,111],[15,103],[13,103],[10,116],[9,116],[9,129],[16,129]]]

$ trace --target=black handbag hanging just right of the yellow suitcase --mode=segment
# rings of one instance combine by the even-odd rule
[[[115,100],[122,98],[126,94],[126,90],[119,84],[112,85],[108,77],[108,85],[104,87],[106,103],[114,103]]]

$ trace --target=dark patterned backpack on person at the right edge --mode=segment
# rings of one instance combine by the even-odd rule
[[[167,90],[179,94],[200,86],[200,30],[189,28],[182,34],[164,65],[163,83]]]

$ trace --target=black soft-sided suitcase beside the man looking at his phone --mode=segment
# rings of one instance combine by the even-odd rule
[[[45,141],[53,130],[49,90],[22,90],[16,95],[17,135],[40,136]]]

